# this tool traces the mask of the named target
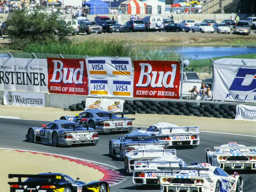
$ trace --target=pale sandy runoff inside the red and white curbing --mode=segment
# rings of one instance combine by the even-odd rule
[[[62,158],[8,149],[0,149],[0,162],[2,165],[0,166],[0,192],[10,191],[7,182],[18,181],[18,178],[8,179],[8,174],[57,172],[67,174],[74,179],[79,177],[81,181],[86,183],[100,180],[104,176],[102,172],[94,168]]]

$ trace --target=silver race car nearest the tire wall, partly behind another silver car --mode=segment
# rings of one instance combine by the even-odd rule
[[[124,115],[128,114],[135,115],[135,112],[110,113],[108,111],[98,109],[87,109],[79,114],[75,114],[74,117],[62,116],[60,119],[76,123],[95,123],[95,125],[90,125],[90,127],[94,128],[95,130],[99,130],[101,133],[122,131],[131,132],[133,128],[132,121],[135,120],[135,118],[124,117]],[[121,115],[121,117],[118,117],[117,115]]]

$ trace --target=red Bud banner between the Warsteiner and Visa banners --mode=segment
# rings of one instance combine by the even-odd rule
[[[84,59],[47,58],[49,93],[88,95],[88,76]]]

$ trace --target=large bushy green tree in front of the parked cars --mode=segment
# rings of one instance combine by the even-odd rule
[[[74,29],[64,22],[59,12],[44,10],[14,10],[7,20],[9,39],[15,49],[22,49],[29,43],[48,44],[69,42],[68,35]]]

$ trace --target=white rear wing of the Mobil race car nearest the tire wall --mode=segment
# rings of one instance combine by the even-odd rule
[[[183,129],[186,130],[186,132],[172,132],[172,130],[177,130],[177,129]],[[191,132],[189,130],[193,129]],[[159,134],[168,134],[168,135],[190,135],[190,134],[199,134],[199,126],[189,126],[189,127],[160,127],[159,128]]]

